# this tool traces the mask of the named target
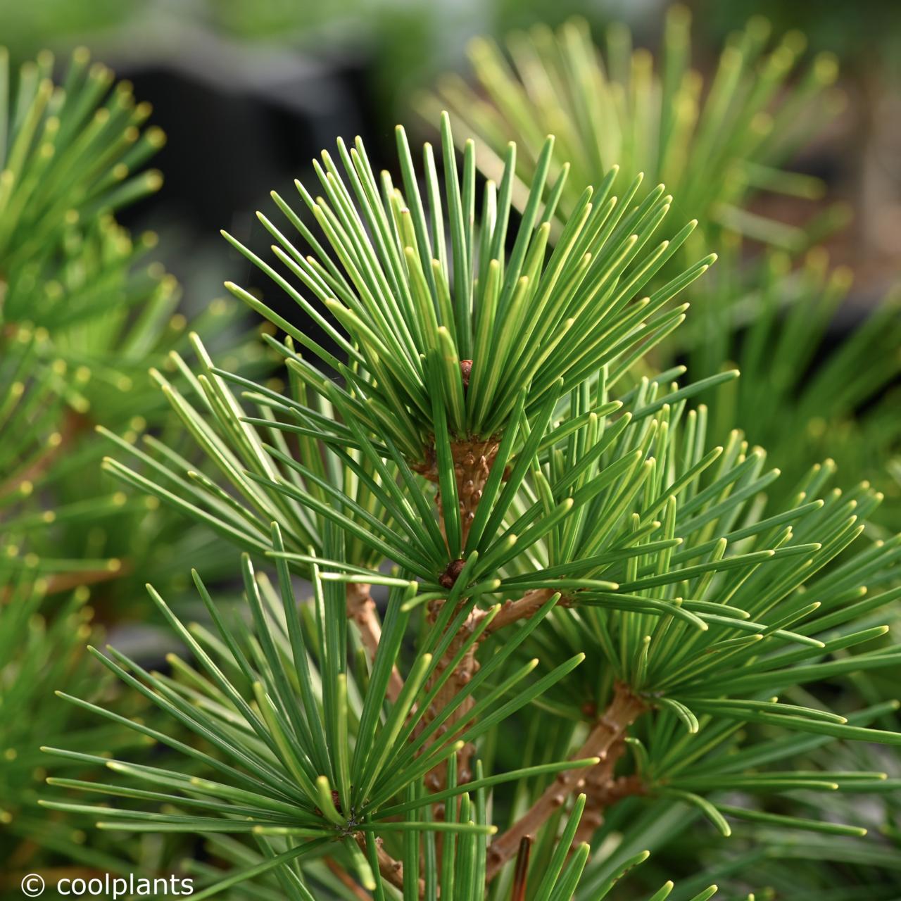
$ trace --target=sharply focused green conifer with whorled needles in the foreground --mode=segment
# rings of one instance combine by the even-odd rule
[[[260,214],[269,259],[226,235],[296,304],[227,286],[282,332],[284,390],[196,336],[185,387],[159,382],[197,452],[109,432],[108,472],[242,551],[246,606],[195,571],[208,622],[185,623],[149,587],[187,655],[91,652],[159,716],[64,697],[165,750],[61,741],[94,769],[43,803],[204,835],[231,869],[190,860],[198,899],[603,898],[647,857],[605,820],[660,800],[723,836],[862,835],[793,799],[895,787],[796,764],[901,744],[894,702],[806,688],[901,660],[901,542],[864,533],[880,497],[813,461],[774,491],[765,451],[709,440],[695,403],[737,373],[642,369],[715,260],[664,187],[614,193],[609,169],[572,192],[549,138],[516,200],[514,148],[480,187],[475,143],[440,132],[417,164],[398,129],[398,180],[359,140],[323,152]]]

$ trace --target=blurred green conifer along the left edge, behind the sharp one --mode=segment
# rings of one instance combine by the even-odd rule
[[[74,710],[64,714],[52,691],[67,685],[109,700],[114,680],[98,683],[84,651],[92,636],[99,641],[95,621],[147,614],[143,583],[151,574],[169,590],[179,578],[189,583],[173,565],[177,552],[193,546],[198,562],[219,556],[205,556],[205,533],[192,540],[156,499],[128,496],[100,469],[106,442],[97,423],[126,440],[150,427],[175,447],[184,443],[168,432],[180,423],[148,369],[189,349],[187,320],[175,279],[144,259],[156,236],[132,236],[114,218],[161,183],[159,172],[143,170],[164,142],[159,128],[147,127],[150,105],[84,48],[59,83],[53,73],[50,53],[11,71],[0,48],[4,873],[72,860],[117,871],[132,860],[109,842],[84,848],[75,824],[41,811],[37,795],[48,771],[75,776],[82,768],[51,762],[34,739],[76,734],[73,747],[133,750],[133,735]],[[232,320],[220,302],[194,324],[228,347]]]

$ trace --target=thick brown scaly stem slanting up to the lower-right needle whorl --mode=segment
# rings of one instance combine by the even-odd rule
[[[613,778],[613,768],[618,758],[616,746],[622,746],[626,730],[645,709],[645,704],[632,690],[617,683],[614,697],[588,734],[585,743],[578,749],[574,760],[586,757],[599,757],[597,767],[604,767],[606,781]],[[621,753],[622,751],[620,751]],[[602,774],[599,773],[599,776]],[[547,787],[542,796],[529,808],[525,815],[503,835],[500,835],[488,847],[487,879],[495,878],[507,860],[512,860],[519,848],[519,843],[526,835],[533,835],[544,824],[555,810],[560,809],[567,796],[586,782],[584,769],[570,769],[562,772]]]

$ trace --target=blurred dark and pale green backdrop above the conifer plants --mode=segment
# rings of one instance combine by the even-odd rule
[[[425,133],[411,98],[448,69],[466,70],[466,45],[534,22],[581,14],[598,34],[623,20],[654,49],[660,0],[0,0],[0,42],[14,61],[50,48],[59,60],[84,44],[132,80],[168,134],[155,160],[166,182],[126,214],[162,236],[163,259],[189,304],[241,281],[244,260],[218,230],[264,241],[253,217],[268,191],[310,174],[336,135],[361,134],[376,166],[393,157],[393,126]],[[841,60],[845,112],[796,168],[823,177],[852,207],[830,242],[856,274],[852,303],[869,305],[896,279],[901,250],[901,3],[889,0],[696,0],[694,63],[709,71],[721,43],[753,14],[776,33],[799,29],[811,50]],[[790,211],[788,213],[790,215]]]

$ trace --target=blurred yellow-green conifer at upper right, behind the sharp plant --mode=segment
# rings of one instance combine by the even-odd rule
[[[623,23],[612,23],[597,43],[578,18],[557,30],[539,23],[500,43],[478,38],[470,46],[471,73],[442,77],[420,106],[430,122],[446,107],[458,133],[478,137],[477,165],[487,177],[497,177],[516,142],[513,197],[520,208],[546,132],[558,141],[551,176],[569,168],[558,205],[563,215],[613,167],[620,195],[640,175],[639,199],[666,184],[676,208],[700,223],[686,250],[713,246],[721,259],[688,289],[695,313],[654,351],[651,369],[687,362],[693,377],[703,378],[735,361],[741,383],[704,396],[715,405],[715,439],[748,430],[791,484],[811,457],[834,457],[887,493],[878,519],[896,531],[899,492],[884,465],[899,440],[897,396],[887,390],[901,371],[896,292],[834,350],[826,345],[851,272],[830,271],[815,245],[848,214],[822,203],[812,212],[823,183],[785,168],[844,105],[837,61],[828,52],[805,59],[804,35],[774,36],[769,22],[754,16],[725,41],[705,83],[692,67],[690,31],[687,8],[669,7],[658,59],[633,48]],[[781,207],[789,198],[796,222],[765,212],[773,206],[765,201],[778,196]],[[551,243],[561,221],[553,223]],[[806,378],[814,359],[815,375]],[[774,419],[769,405],[784,417]],[[787,420],[793,428],[783,427]]]

